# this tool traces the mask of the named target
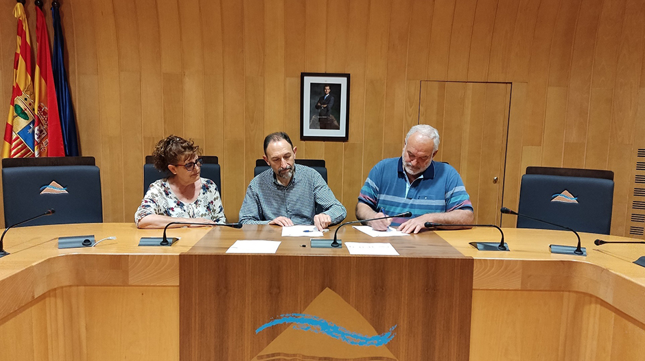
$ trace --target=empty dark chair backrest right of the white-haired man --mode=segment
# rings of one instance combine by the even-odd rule
[[[521,178],[518,212],[578,232],[609,234],[613,172],[528,167]],[[560,229],[517,217],[518,228]]]

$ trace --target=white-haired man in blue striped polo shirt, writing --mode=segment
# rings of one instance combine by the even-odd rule
[[[412,212],[412,219],[393,218],[368,222],[385,231],[390,225],[418,233],[425,222],[471,224],[473,205],[459,173],[449,164],[432,159],[439,134],[430,125],[414,125],[406,136],[401,158],[378,162],[358,196],[357,219],[373,219]]]

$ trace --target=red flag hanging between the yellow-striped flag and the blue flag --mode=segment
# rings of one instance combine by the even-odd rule
[[[51,71],[49,34],[47,34],[45,14],[38,6],[36,6],[36,49],[34,151],[36,157],[64,157],[65,147],[62,144],[54,73]]]

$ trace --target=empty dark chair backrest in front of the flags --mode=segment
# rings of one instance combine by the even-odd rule
[[[5,226],[54,208],[24,226],[103,222],[101,174],[93,157],[2,160]]]

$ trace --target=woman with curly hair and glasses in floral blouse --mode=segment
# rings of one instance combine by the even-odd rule
[[[134,214],[137,227],[163,228],[170,222],[226,223],[218,187],[211,179],[200,177],[201,153],[192,140],[178,136],[156,144],[154,167],[172,175],[150,184]]]

